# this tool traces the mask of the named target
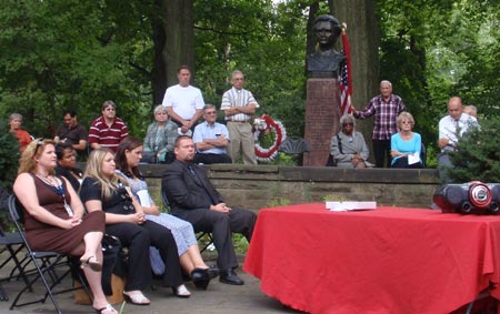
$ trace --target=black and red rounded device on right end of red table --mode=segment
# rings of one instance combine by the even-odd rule
[[[500,183],[446,184],[432,197],[443,213],[499,215]]]

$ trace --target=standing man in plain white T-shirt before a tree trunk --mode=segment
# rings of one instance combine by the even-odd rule
[[[194,130],[204,102],[201,91],[189,84],[191,71],[187,65],[179,67],[177,78],[179,84],[167,89],[162,105],[167,108],[172,121],[179,125],[181,133],[187,134],[189,130]]]

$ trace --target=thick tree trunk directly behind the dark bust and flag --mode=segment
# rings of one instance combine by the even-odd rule
[[[372,0],[336,0],[331,8],[341,23],[347,23],[351,51],[352,104],[363,109],[368,101],[379,94],[379,42],[380,34]],[[371,149],[373,119],[357,121]],[[370,154],[372,158],[373,154]]]

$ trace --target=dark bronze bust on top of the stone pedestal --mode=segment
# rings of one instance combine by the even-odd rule
[[[337,78],[340,64],[346,55],[334,50],[334,44],[342,32],[339,20],[329,14],[314,19],[314,33],[318,49],[307,58],[307,69],[311,78]]]

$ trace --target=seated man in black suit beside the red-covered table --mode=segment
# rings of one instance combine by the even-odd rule
[[[172,213],[189,221],[194,231],[212,233],[219,253],[220,282],[242,285],[243,281],[234,272],[238,261],[231,233],[241,233],[250,242],[257,215],[226,205],[204,171],[192,163],[196,149],[190,136],[177,138],[173,153],[176,161],[167,166],[161,181],[161,190],[170,201]]]

